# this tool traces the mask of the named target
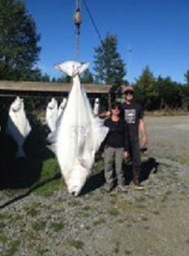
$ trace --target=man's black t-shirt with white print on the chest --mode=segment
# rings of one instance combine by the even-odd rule
[[[124,111],[125,120],[127,121],[130,140],[139,139],[139,123],[143,118],[143,110],[141,105],[137,102],[131,104],[123,103],[122,108]]]

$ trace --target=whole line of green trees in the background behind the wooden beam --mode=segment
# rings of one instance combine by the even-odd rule
[[[40,39],[35,20],[23,1],[0,1],[0,80],[70,82],[66,75],[50,78],[37,67]],[[112,85],[113,97],[120,96],[121,86],[129,82],[127,64],[118,52],[117,36],[107,34],[94,51],[94,74],[87,70],[81,82]],[[147,66],[133,84],[136,99],[146,110],[189,110],[189,69],[184,77],[184,84],[174,82],[169,76],[154,77]]]

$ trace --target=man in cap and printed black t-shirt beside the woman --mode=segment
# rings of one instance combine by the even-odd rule
[[[122,104],[125,120],[129,131],[129,153],[133,161],[133,183],[137,189],[143,189],[140,185],[140,133],[142,135],[141,146],[147,145],[147,133],[143,120],[143,110],[139,103],[134,102],[134,87],[127,85],[123,90],[126,102]]]

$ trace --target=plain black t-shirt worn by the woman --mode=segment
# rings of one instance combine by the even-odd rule
[[[128,127],[127,122],[122,118],[119,121],[112,121],[111,117],[104,121],[104,125],[109,128],[105,139],[105,145],[113,148],[125,148],[128,150]]]

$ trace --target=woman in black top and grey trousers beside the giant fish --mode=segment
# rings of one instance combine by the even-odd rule
[[[110,192],[114,188],[114,169],[117,176],[117,184],[121,191],[127,191],[123,170],[123,159],[128,156],[128,128],[127,121],[121,116],[121,103],[114,102],[111,115],[104,121],[109,128],[104,141],[104,172],[105,189]]]

